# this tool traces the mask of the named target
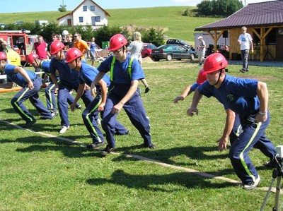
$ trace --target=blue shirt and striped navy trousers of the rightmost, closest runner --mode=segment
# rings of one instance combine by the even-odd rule
[[[233,169],[244,184],[258,178],[248,152],[252,147],[258,148],[270,160],[275,158],[275,146],[265,136],[265,129],[270,123],[270,113],[267,121],[255,122],[255,116],[260,110],[260,101],[256,94],[258,80],[234,78],[226,75],[220,88],[214,88],[206,81],[198,88],[200,94],[215,97],[224,104],[225,109],[231,109],[240,116],[243,132],[236,138],[229,152]]]

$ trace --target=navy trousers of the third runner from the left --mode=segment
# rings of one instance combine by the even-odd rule
[[[69,126],[69,115],[68,115],[68,104],[67,100],[70,95],[71,90],[78,90],[79,86],[69,86],[63,83],[59,83],[59,91],[58,91],[58,109],[61,118],[61,126]],[[83,103],[86,107],[93,101],[93,97],[91,96],[91,92],[89,90],[85,90],[83,95],[81,96]]]

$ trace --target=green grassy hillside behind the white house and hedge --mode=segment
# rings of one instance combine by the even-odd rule
[[[125,8],[106,9],[110,13],[108,24],[125,26],[137,25],[143,27],[161,26],[166,30],[166,35],[171,38],[180,38],[190,44],[194,43],[195,28],[207,23],[220,20],[219,18],[199,18],[182,16],[187,6],[151,7],[151,8]],[[69,12],[66,12],[69,13]],[[66,13],[59,11],[34,12],[34,13],[1,13],[0,23],[13,23],[18,20],[34,23],[35,20],[48,20],[56,22],[57,18]]]

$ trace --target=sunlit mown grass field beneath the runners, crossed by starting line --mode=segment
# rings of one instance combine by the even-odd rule
[[[239,69],[240,66],[229,66],[229,74],[267,83],[271,123],[266,135],[275,145],[282,145],[283,68],[250,66],[246,75]],[[217,151],[216,140],[221,136],[226,116],[221,104],[203,97],[200,114],[194,117],[186,115],[192,95],[173,104],[185,86],[195,82],[197,64],[144,63],[144,71],[151,91],[141,98],[151,119],[156,150],[140,147],[141,137],[125,111],[118,119],[131,133],[116,137],[119,154],[108,157],[101,157],[98,150],[0,121],[0,210],[260,210],[266,194],[260,188],[270,186],[272,169],[262,167],[267,157],[259,150],[252,150],[250,157],[262,181],[260,188],[250,192],[229,181],[127,156],[139,155],[238,181],[228,159],[229,150]],[[24,121],[10,104],[15,94],[1,94],[0,119],[21,126]],[[43,90],[40,97],[45,102]],[[33,131],[91,143],[81,110],[69,111],[71,129],[59,135],[59,116],[43,121],[30,102],[25,105],[37,119]],[[265,210],[272,210],[274,201],[275,194],[271,193]]]

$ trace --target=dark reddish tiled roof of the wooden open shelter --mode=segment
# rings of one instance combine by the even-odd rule
[[[248,4],[228,18],[195,28],[195,31],[283,25],[283,0]]]

